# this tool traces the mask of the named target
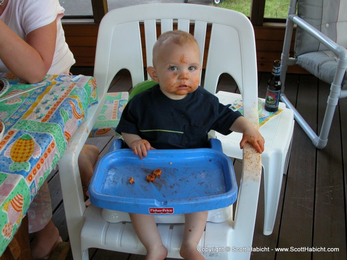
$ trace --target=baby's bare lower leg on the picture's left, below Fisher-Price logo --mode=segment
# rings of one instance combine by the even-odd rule
[[[153,215],[129,213],[137,236],[147,250],[145,260],[164,260],[168,250],[163,245]]]

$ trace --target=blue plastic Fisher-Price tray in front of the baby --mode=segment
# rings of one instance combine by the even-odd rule
[[[220,141],[214,142],[220,150]],[[157,168],[162,175],[148,182],[147,174]],[[100,208],[180,214],[231,205],[237,184],[230,158],[216,149],[150,150],[143,159],[130,149],[120,149],[98,162],[89,196]]]

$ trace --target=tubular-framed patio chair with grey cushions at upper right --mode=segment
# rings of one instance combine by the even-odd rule
[[[297,6],[297,14],[296,14]],[[281,101],[294,111],[295,120],[318,149],[328,142],[330,126],[339,99],[347,97],[347,0],[290,0],[287,28],[281,56]],[[289,48],[294,24],[294,57]],[[286,97],[285,80],[289,65],[298,64],[320,80],[331,84],[319,136]]]

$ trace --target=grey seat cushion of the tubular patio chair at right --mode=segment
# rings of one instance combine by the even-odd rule
[[[331,84],[337,68],[337,57],[331,51],[309,52],[299,55],[297,64],[311,72],[317,78]],[[347,73],[342,82],[343,87],[347,87]]]

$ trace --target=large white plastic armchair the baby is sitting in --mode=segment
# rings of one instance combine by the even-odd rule
[[[103,104],[108,87],[120,69],[130,71],[133,86],[144,80],[141,47],[143,39],[139,21],[143,22],[145,27],[147,65],[152,64],[157,24],[160,24],[162,32],[172,30],[173,23],[176,22],[178,29],[184,31],[189,31],[191,25],[203,53],[207,23],[212,23],[205,88],[215,93],[220,74],[231,74],[242,86],[244,116],[258,127],[253,27],[243,14],[212,6],[184,3],[143,4],[107,13],[99,27],[94,68],[100,104]],[[216,63],[220,65],[218,69]],[[210,70],[213,73],[209,72]],[[87,260],[90,247],[134,254],[146,253],[130,222],[106,221],[105,218],[111,216],[107,211],[93,205],[86,208],[84,205],[77,158],[101,106],[92,107],[88,111],[88,119],[71,138],[64,156],[59,161],[66,222],[74,260]],[[221,223],[207,222],[200,241],[201,247],[223,248],[224,252],[219,252],[221,260],[250,258],[251,252],[248,250],[231,252],[230,249],[252,246],[260,179],[261,157],[247,144],[243,149],[243,170],[234,219],[230,216]],[[177,222],[181,221],[172,219],[172,223],[176,224],[158,224],[164,245],[169,250],[169,258],[180,258],[183,224]]]

